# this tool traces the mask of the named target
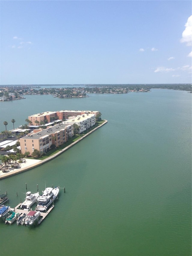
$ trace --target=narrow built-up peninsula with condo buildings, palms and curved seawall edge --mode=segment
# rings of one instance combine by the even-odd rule
[[[48,122],[44,125],[44,128],[41,128],[42,126],[37,125],[37,122],[34,121],[38,118],[51,121],[53,117],[57,116],[58,118],[59,115],[60,118],[63,117],[64,121],[57,119],[54,122]],[[65,119],[65,116],[67,116],[67,119]],[[20,137],[20,146],[16,146],[18,145],[18,140],[10,143],[5,141],[6,144],[1,142],[1,150],[6,150],[7,146],[9,146],[8,144],[12,143],[12,146],[6,152],[8,156],[4,156],[3,161],[1,160],[4,162],[4,166],[0,168],[0,179],[50,161],[107,123],[107,120],[101,119],[99,111],[88,110],[47,111],[29,116],[29,118],[32,119],[32,124],[27,129],[29,133],[24,137]],[[36,125],[33,125],[33,122]],[[21,133],[22,130],[13,129],[10,132],[15,135],[19,134],[19,132]]]

